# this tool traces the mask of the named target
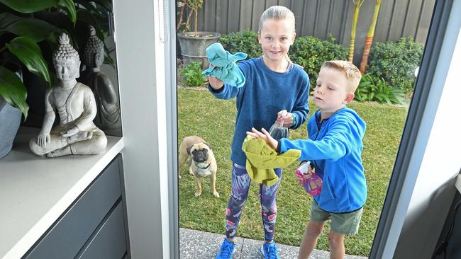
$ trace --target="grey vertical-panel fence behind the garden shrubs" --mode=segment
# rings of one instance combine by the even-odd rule
[[[355,38],[355,64],[360,58],[374,10],[374,0],[360,9]],[[435,0],[382,0],[374,40],[399,40],[411,36],[425,43]],[[352,0],[204,0],[199,11],[199,30],[226,34],[246,29],[257,31],[262,12],[269,6],[287,6],[296,18],[296,36],[312,35],[348,46],[352,28]]]

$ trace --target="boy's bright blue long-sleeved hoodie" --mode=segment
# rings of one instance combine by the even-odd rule
[[[362,166],[362,139],[366,124],[354,110],[338,110],[320,122],[318,110],[308,122],[309,139],[280,139],[280,152],[301,150],[301,161],[311,161],[322,178],[318,207],[333,213],[360,209],[367,200],[367,183]]]

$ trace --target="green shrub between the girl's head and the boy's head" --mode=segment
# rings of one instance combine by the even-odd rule
[[[343,45],[335,43],[335,39],[320,40],[312,36],[296,38],[289,50],[289,57],[295,64],[304,67],[309,74],[311,86],[315,86],[318,71],[327,60],[345,60],[348,50]]]

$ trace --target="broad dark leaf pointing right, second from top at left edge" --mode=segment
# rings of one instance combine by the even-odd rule
[[[4,27],[3,25],[6,26]],[[2,13],[2,16],[0,16],[0,26],[0,30],[6,30],[9,33],[24,36],[36,42],[45,40],[52,32],[60,30],[55,25],[39,19],[22,18],[5,13]]]

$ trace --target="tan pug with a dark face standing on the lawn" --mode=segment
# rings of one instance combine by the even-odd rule
[[[201,178],[211,177],[211,192],[215,197],[219,197],[216,191],[216,159],[214,158],[211,146],[201,137],[184,137],[179,146],[179,168],[189,159],[189,173],[195,179],[195,197],[201,195]],[[181,175],[179,175],[179,179]]]

